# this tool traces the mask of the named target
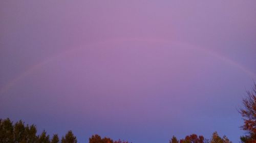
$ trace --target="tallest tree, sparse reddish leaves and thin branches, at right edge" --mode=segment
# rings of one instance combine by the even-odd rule
[[[242,136],[242,142],[255,142],[256,140],[256,84],[252,92],[247,91],[247,98],[243,99],[244,108],[240,108],[239,112],[243,117],[244,125],[241,127],[247,131],[248,135]]]

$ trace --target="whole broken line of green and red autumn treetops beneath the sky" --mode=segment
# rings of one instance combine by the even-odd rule
[[[244,125],[241,128],[247,132],[245,136],[240,137],[242,143],[256,143],[256,84],[252,92],[247,91],[247,97],[243,99],[243,108],[239,112],[243,117]],[[52,138],[44,130],[37,135],[35,125],[26,125],[23,121],[18,121],[15,124],[7,118],[0,119],[0,143],[77,143],[76,136],[72,131],[68,131],[61,139],[57,134],[53,134]],[[99,135],[92,135],[89,138],[89,143],[129,143],[128,141],[113,141],[111,138],[101,138]],[[210,139],[205,139],[202,135],[197,136],[191,134],[185,138],[178,140],[175,136],[169,140],[169,143],[231,143],[224,135],[220,137],[217,132],[214,132]]]

